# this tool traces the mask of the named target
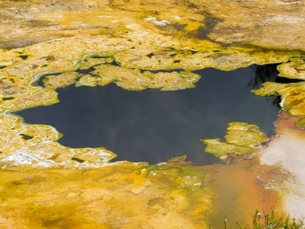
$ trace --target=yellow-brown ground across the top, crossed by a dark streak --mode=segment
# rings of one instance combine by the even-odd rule
[[[24,1],[3,2],[0,16],[4,26],[0,35],[11,40],[0,40],[0,47],[16,48],[79,35],[111,34],[127,37],[128,33],[141,29],[152,35],[170,34],[180,38],[180,42],[183,38],[197,41],[206,38],[225,44],[251,42],[268,47],[302,48],[304,38],[299,24],[304,20],[303,5],[301,2],[280,3],[221,0],[171,0],[167,3],[148,0],[132,3],[74,1],[71,6],[69,1],[60,4],[47,1],[41,4],[36,0],[31,5]],[[195,22],[205,26],[199,26],[196,31],[187,31],[186,27]],[[266,33],[268,36],[265,36]],[[197,45],[200,44],[195,42]]]

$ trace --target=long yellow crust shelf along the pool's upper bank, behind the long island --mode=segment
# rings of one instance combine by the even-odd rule
[[[179,51],[176,50],[173,54],[173,50],[164,50],[159,53],[155,51],[154,56],[149,58],[147,55],[139,53],[137,50],[130,50],[123,54],[118,54],[118,61],[123,63],[123,67],[128,68],[141,68],[141,69],[172,69],[172,68],[185,68],[188,70],[197,70],[207,67],[215,67],[222,70],[233,70],[238,67],[246,67],[252,64],[254,61],[261,62],[262,60],[254,59],[248,54],[243,53],[230,53],[230,51],[220,51],[215,53],[213,49],[206,48],[207,50],[192,53],[191,51]],[[219,48],[217,48],[219,50]],[[222,50],[220,48],[220,50]],[[130,59],[126,55],[131,55]],[[173,55],[173,56],[172,56]]]

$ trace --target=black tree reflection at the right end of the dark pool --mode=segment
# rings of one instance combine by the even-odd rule
[[[248,83],[248,88],[259,89],[262,87],[264,82],[279,82],[279,83],[290,83],[299,82],[298,79],[289,79],[285,77],[278,76],[279,71],[277,66],[279,64],[268,64],[268,65],[252,65],[250,68],[253,69],[255,74],[252,76],[250,82]],[[269,99],[272,100],[272,104],[280,109],[280,96],[270,96]]]

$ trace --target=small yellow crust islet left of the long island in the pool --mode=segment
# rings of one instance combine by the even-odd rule
[[[56,90],[57,88],[65,88],[75,84],[76,80],[82,75],[78,72],[66,72],[60,75],[47,75],[42,81],[46,88]]]

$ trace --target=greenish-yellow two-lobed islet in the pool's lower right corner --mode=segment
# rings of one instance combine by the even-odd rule
[[[250,154],[258,150],[261,142],[268,141],[266,134],[259,130],[258,126],[245,122],[233,122],[228,124],[226,142],[216,139],[200,139],[207,145],[205,152],[222,158],[228,154]]]

